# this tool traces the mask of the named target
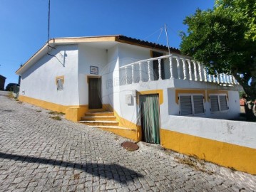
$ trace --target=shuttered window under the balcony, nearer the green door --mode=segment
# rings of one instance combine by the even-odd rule
[[[195,115],[205,113],[203,95],[179,95],[180,114]]]

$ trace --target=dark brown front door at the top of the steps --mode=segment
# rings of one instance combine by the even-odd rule
[[[101,109],[101,78],[88,78],[89,109]]]

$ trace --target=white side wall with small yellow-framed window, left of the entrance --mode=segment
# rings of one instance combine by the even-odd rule
[[[21,74],[20,95],[59,105],[78,105],[78,50],[76,45],[56,46],[51,55]],[[63,90],[57,90],[56,77],[64,76]]]

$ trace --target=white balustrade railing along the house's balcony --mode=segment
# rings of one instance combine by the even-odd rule
[[[154,60],[156,60],[158,63],[158,80],[162,80],[163,78],[162,67],[164,66],[165,70],[170,70],[170,79],[214,82],[223,86],[232,86],[234,84],[238,84],[238,82],[232,75],[227,75],[224,73],[210,75],[208,73],[208,69],[205,68],[202,63],[176,54],[164,55],[158,58],[139,60],[134,63],[121,66],[120,69],[125,70],[124,84],[128,85],[134,84],[136,82],[149,82],[153,80],[154,73],[152,70],[152,65]],[[164,63],[163,66],[161,63]],[[135,70],[135,68],[138,68],[138,70]],[[128,75],[128,70],[131,70],[130,75]],[[137,76],[139,80],[135,80],[135,73],[138,73]],[[148,76],[146,79],[145,73],[147,74],[146,76]]]

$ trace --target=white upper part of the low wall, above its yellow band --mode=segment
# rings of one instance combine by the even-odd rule
[[[168,117],[163,129],[256,149],[256,124],[200,117]]]

